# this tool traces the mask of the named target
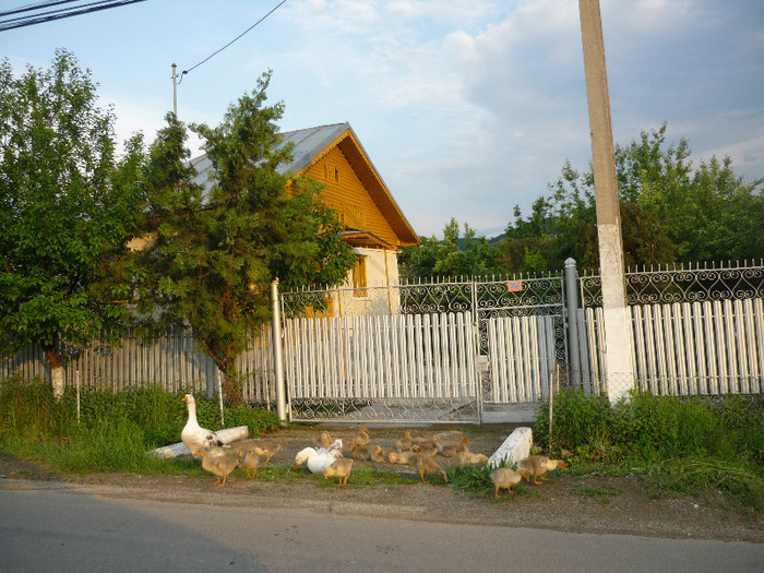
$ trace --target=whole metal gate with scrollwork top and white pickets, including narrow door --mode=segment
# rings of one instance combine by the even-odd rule
[[[563,278],[282,296],[293,420],[478,423],[548,395],[565,365]]]

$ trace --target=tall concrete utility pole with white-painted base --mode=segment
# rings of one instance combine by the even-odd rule
[[[578,11],[584,45],[599,266],[602,277],[606,390],[610,401],[616,402],[626,395],[634,385],[634,367],[599,0],[578,0]]]

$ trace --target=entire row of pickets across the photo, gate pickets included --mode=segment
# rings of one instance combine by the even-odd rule
[[[457,286],[463,305],[469,297]],[[442,289],[437,293],[444,298]],[[402,297],[398,290],[382,295]],[[560,326],[554,324],[560,313],[478,319],[474,309],[403,314],[385,308],[377,315],[286,319],[289,399],[451,399],[458,407],[459,401],[535,403],[548,397],[558,365],[563,383],[581,384],[589,394],[605,391],[600,308],[569,311],[576,317],[578,346],[569,349],[569,357],[577,354],[577,372],[564,371]],[[634,305],[630,312],[635,382],[644,390],[661,395],[764,392],[762,298]],[[268,329],[252,338],[239,359],[248,402],[275,404],[271,341]],[[14,372],[49,375],[38,347],[0,357],[0,377]],[[121,347],[94,342],[65,362],[65,380],[115,392],[159,384],[171,392],[212,394],[218,387],[217,368],[189,332],[128,336]]]

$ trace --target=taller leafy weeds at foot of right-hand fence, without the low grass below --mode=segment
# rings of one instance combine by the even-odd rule
[[[539,407],[538,443],[548,444],[548,404]],[[761,401],[729,396],[656,396],[633,392],[611,405],[580,390],[554,397],[552,442],[581,461],[638,458],[665,461],[689,455],[762,462],[764,409]]]

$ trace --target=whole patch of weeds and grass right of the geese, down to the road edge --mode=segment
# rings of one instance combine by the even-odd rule
[[[548,420],[545,404],[534,429],[545,445]],[[554,451],[569,451],[580,470],[628,463],[655,491],[720,490],[761,511],[763,440],[764,403],[757,396],[679,398],[633,392],[614,405],[578,390],[554,397]]]

